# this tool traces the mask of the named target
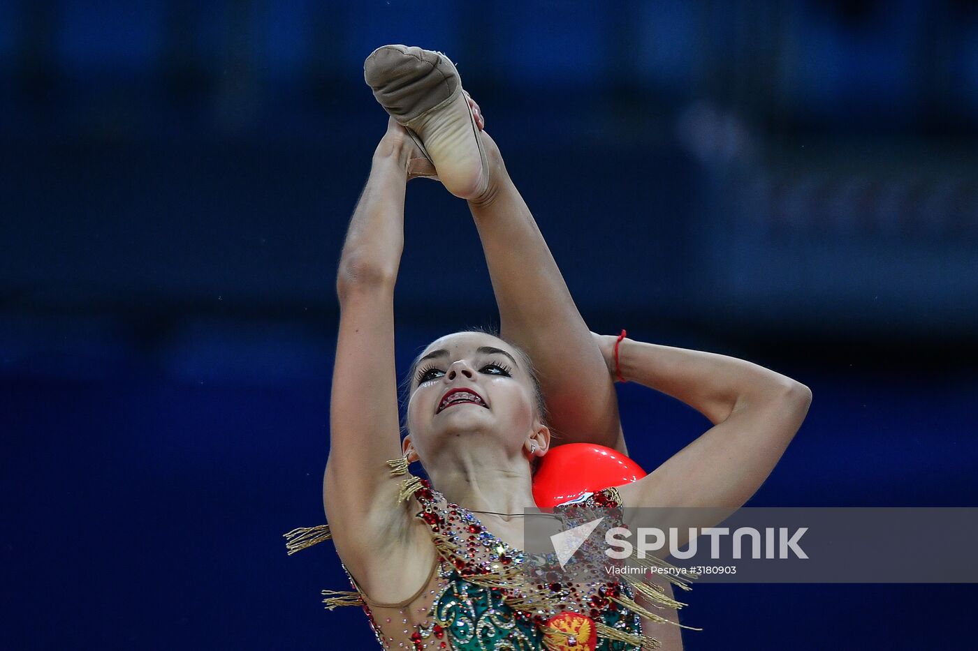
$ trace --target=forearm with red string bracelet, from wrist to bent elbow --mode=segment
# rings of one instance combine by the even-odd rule
[[[626,380],[686,403],[713,424],[726,420],[734,409],[777,399],[798,385],[774,370],[727,355],[628,338],[619,344],[618,368]]]

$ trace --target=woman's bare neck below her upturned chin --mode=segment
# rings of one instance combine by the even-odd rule
[[[485,451],[447,451],[428,468],[432,485],[449,501],[472,511],[519,514],[533,508],[530,464],[514,458],[486,455]]]

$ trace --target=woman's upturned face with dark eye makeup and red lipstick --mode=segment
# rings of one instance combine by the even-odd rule
[[[502,446],[519,454],[543,427],[525,367],[509,344],[483,332],[456,332],[429,344],[408,402],[410,443],[422,461],[458,438],[473,449]]]

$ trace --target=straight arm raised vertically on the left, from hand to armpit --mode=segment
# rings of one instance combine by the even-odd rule
[[[410,530],[386,460],[401,456],[394,368],[394,282],[404,245],[409,150],[392,120],[350,220],[339,261],[339,334],[330,399],[323,502],[336,551],[361,586],[384,600]],[[395,549],[396,547],[396,549]],[[400,551],[398,551],[400,550]],[[392,555],[395,554],[395,555]],[[425,568],[426,569],[426,568]],[[396,591],[397,586],[393,586]]]

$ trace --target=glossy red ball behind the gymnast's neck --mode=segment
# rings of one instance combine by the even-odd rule
[[[645,477],[638,463],[611,448],[592,443],[557,446],[540,461],[533,476],[533,499],[548,508]]]

